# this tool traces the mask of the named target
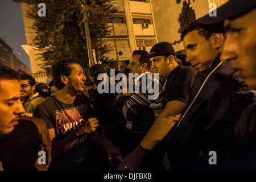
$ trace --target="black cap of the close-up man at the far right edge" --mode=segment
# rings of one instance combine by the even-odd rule
[[[218,24],[224,22],[225,19],[233,19],[241,16],[256,7],[255,0],[229,0],[224,5],[216,9],[217,16],[209,16],[209,14],[196,20],[196,23],[203,25]]]

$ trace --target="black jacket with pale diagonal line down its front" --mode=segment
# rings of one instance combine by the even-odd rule
[[[197,75],[191,96],[180,121],[166,137],[172,169],[229,168],[234,127],[253,102],[253,94],[234,77],[230,63],[222,63],[218,55],[210,68]],[[217,154],[216,165],[209,164],[210,151]]]

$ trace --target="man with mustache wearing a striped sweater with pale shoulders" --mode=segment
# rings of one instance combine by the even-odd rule
[[[125,156],[138,146],[150,130],[152,123],[164,109],[163,88],[159,80],[149,72],[150,65],[150,57],[147,51],[144,50],[135,50],[129,65],[127,65],[129,73],[138,76],[134,79],[134,87],[139,88],[139,90],[136,90],[139,92],[131,94],[130,99],[123,106],[123,116],[125,117],[123,154]],[[146,92],[142,92],[143,89]],[[163,147],[159,145],[147,155],[138,169],[163,171],[165,169],[164,153]]]

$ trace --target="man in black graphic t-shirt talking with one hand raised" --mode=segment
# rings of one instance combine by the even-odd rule
[[[78,94],[84,92],[86,80],[81,65],[73,60],[60,60],[52,69],[59,92],[35,109],[35,117],[43,118],[48,125],[53,146],[52,169],[88,169],[88,137],[100,144],[108,157],[118,153],[118,148],[98,135],[98,120],[90,118],[88,98]]]

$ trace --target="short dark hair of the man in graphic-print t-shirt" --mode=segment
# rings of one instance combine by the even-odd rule
[[[60,76],[69,76],[71,73],[70,64],[79,64],[77,60],[61,59],[52,65],[53,83],[57,89],[63,89],[65,84],[60,80]]]

